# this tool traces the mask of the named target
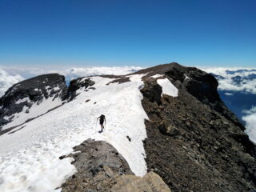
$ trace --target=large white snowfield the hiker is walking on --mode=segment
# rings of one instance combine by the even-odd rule
[[[72,147],[88,138],[109,142],[126,158],[134,174],[146,174],[142,141],[146,138],[144,120],[148,117],[141,103],[141,78],[142,75],[132,75],[130,82],[107,86],[113,78],[93,77],[95,90],[81,88],[72,102],[27,122],[23,128],[18,126],[14,134],[3,134],[1,191],[54,191],[75,172],[72,159],[59,157],[70,154]],[[106,115],[106,129],[99,134],[96,119],[101,114]]]

